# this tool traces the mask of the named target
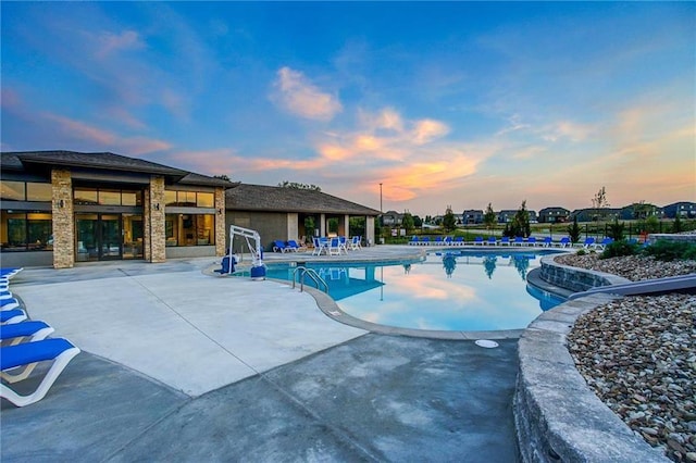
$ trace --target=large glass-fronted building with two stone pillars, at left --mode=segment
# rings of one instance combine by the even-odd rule
[[[234,183],[110,152],[0,155],[3,266],[224,254]]]

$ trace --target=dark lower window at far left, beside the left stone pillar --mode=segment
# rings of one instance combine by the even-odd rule
[[[3,251],[52,251],[51,214],[46,212],[0,213]]]

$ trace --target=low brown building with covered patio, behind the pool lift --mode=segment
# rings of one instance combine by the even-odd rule
[[[374,245],[374,221],[381,214],[377,210],[316,190],[247,184],[226,191],[225,208],[227,225],[259,232],[266,251],[272,249],[274,240],[309,239],[330,234],[360,235],[365,245]],[[362,233],[351,234],[350,217],[363,220],[364,227],[359,230]],[[330,229],[332,222],[336,224],[335,230]],[[310,223],[313,228],[308,229]],[[239,250],[235,243],[235,252]]]

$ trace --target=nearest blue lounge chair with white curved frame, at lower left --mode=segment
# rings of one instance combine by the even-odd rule
[[[73,346],[67,339],[42,339],[34,342],[24,342],[16,346],[0,348],[0,376],[10,384],[26,379],[36,365],[41,362],[52,361],[46,376],[36,388],[27,396],[21,396],[8,385],[0,385],[0,397],[8,399],[16,406],[29,405],[46,397],[48,390],[53,386],[55,379],[65,370],[79,349]]]

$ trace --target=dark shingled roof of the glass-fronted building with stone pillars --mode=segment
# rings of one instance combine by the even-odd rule
[[[0,153],[3,170],[24,171],[33,166],[60,165],[66,167],[125,171],[142,174],[163,175],[173,182],[189,185],[207,185],[231,188],[237,184],[207,175],[195,174],[181,168],[128,158],[111,152],[83,153],[76,151],[14,151]]]

